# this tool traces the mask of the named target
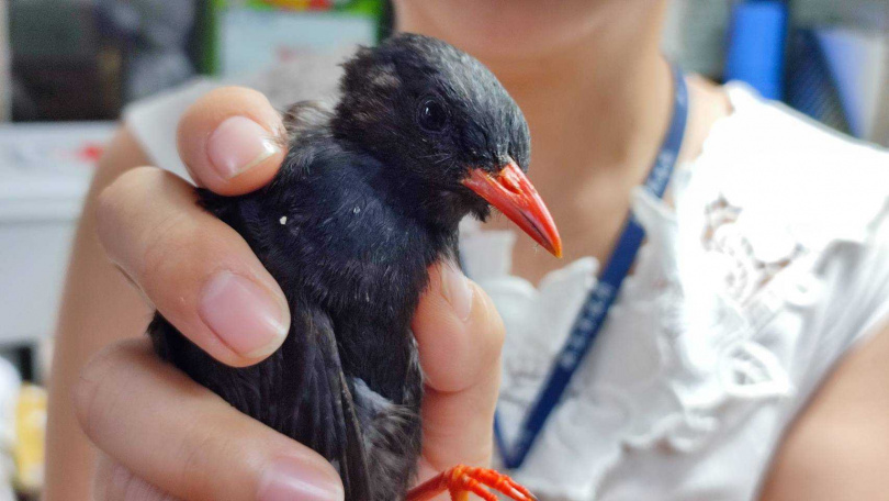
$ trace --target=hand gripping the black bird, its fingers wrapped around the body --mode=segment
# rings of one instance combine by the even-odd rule
[[[278,171],[281,130],[261,94],[220,89],[183,115],[180,155],[201,186],[245,193]],[[283,341],[286,302],[244,240],[195,202],[173,175],[131,170],[100,199],[100,240],[193,343],[228,365],[255,364]],[[493,303],[458,270],[436,266],[413,327],[427,378],[420,480],[458,463],[486,465],[504,336]],[[147,337],[97,356],[78,383],[76,407],[102,452],[97,499],[342,498],[323,457],[160,361]]]

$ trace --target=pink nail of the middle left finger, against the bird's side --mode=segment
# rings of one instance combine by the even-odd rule
[[[207,281],[198,312],[223,343],[247,358],[274,352],[289,329],[284,304],[263,287],[230,271],[220,271]]]

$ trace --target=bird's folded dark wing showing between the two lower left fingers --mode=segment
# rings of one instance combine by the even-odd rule
[[[281,348],[250,367],[222,364],[159,313],[148,327],[155,350],[240,412],[327,458],[347,500],[370,500],[370,474],[355,403],[340,365],[333,322],[307,301],[291,301]]]

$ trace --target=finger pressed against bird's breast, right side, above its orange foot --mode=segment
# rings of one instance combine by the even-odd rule
[[[491,298],[440,265],[414,319],[420,365],[424,458],[434,471],[491,460],[504,326]]]

